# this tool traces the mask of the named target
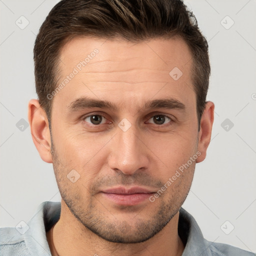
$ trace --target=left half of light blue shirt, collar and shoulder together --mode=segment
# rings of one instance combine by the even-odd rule
[[[44,201],[27,223],[0,228],[0,256],[50,255],[46,232],[58,221],[60,209],[60,202]]]

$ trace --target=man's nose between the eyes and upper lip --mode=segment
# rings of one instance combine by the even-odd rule
[[[110,145],[108,164],[111,169],[124,174],[133,174],[138,169],[148,168],[148,148],[145,137],[137,131],[135,125],[123,131],[117,127],[117,134]]]

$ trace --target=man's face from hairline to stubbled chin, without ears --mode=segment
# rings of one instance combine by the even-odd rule
[[[60,60],[58,84],[69,78],[52,99],[51,146],[61,197],[106,240],[149,239],[177,213],[193,177],[198,124],[188,46],[180,38],[77,38]]]

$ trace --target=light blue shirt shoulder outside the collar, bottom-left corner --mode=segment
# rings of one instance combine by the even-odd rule
[[[15,227],[0,228],[0,256],[3,255],[30,256],[23,235]]]

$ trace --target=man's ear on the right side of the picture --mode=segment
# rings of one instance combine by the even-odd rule
[[[201,162],[206,157],[206,150],[210,143],[211,129],[214,119],[214,104],[207,101],[200,121],[200,131],[198,133],[197,150],[201,153],[196,162]]]

